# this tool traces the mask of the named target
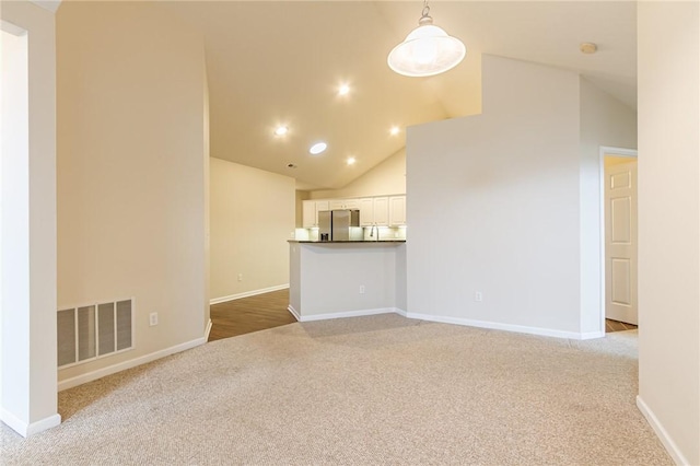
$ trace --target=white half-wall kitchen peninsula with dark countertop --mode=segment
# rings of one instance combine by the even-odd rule
[[[406,311],[406,240],[289,241],[299,322]]]

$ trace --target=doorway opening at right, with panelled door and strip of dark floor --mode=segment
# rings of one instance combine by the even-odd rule
[[[600,148],[602,312],[606,333],[638,328],[637,150]]]

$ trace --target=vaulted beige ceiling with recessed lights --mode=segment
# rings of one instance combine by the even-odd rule
[[[389,70],[421,1],[166,1],[205,35],[211,155],[340,188],[405,147],[405,128],[481,112],[481,54],[580,72],[637,103],[637,5],[620,1],[431,1],[466,59],[432,78]],[[584,55],[583,42],[598,45]],[[350,85],[346,96],[337,94]],[[276,137],[278,125],[289,132]],[[398,126],[398,135],[389,128]],[[310,145],[328,143],[320,155]],[[357,163],[348,165],[354,156]],[[295,167],[288,167],[293,164]]]

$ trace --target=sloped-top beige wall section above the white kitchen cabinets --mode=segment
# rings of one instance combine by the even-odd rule
[[[312,199],[406,194],[406,149],[401,149],[341,189],[311,193]]]

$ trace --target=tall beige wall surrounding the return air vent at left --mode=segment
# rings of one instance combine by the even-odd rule
[[[147,2],[63,2],[57,59],[58,304],[136,299],[136,349],[67,380],[203,342],[206,73],[203,38]]]

